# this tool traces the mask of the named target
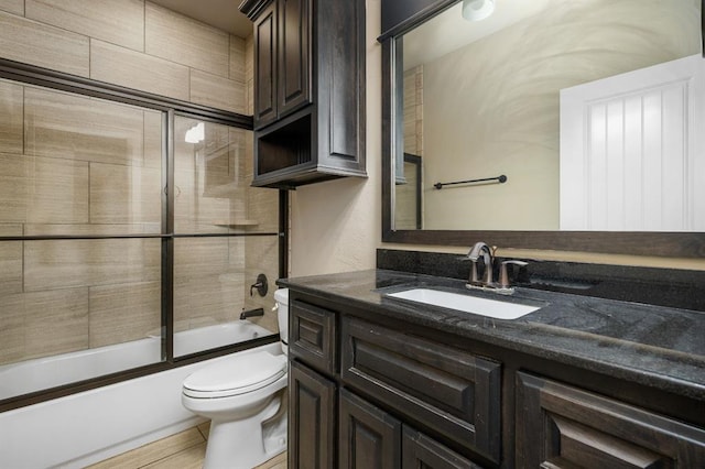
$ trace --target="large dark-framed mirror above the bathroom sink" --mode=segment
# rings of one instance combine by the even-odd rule
[[[702,3],[446,0],[380,37],[383,240],[705,255]]]

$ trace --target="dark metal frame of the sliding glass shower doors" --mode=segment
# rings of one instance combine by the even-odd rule
[[[116,103],[137,106],[162,112],[162,201],[161,201],[161,233],[160,234],[95,234],[95,236],[26,236],[0,237],[0,241],[42,241],[42,240],[98,240],[98,239],[161,239],[161,312],[162,327],[162,361],[152,364],[128,369],[112,374],[65,384],[56,388],[22,394],[0,401],[0,413],[36,404],[44,401],[84,392],[121,381],[144,377],[160,371],[183,367],[194,362],[237,352],[279,341],[279,336],[259,337],[245,342],[202,352],[174,358],[173,356],[173,295],[174,295],[174,239],[184,234],[174,233],[174,194],[169,190],[174,187],[174,118],[176,114],[186,116],[213,123],[253,130],[252,117],[220,109],[194,105],[178,99],[167,98],[140,91],[123,86],[112,85],[90,78],[51,70],[7,58],[0,58],[0,78],[17,81],[22,85],[34,85],[47,89],[68,91],[78,96],[100,98]],[[187,234],[192,236],[192,234]],[[286,276],[289,270],[289,193],[279,190],[279,227],[276,232],[260,233],[227,233],[227,234],[193,234],[195,237],[264,237],[275,236],[279,241],[279,276]]]

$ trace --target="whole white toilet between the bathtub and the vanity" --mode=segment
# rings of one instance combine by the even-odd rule
[[[236,353],[184,380],[184,407],[210,418],[204,469],[251,469],[286,449],[289,290],[274,299],[282,355]]]

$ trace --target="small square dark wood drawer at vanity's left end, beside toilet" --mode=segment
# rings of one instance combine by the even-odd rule
[[[316,370],[336,372],[336,314],[294,299],[289,312],[289,352]]]

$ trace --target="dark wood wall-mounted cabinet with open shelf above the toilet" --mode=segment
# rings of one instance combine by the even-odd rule
[[[254,23],[254,179],[294,188],[365,171],[365,1],[246,0]]]

